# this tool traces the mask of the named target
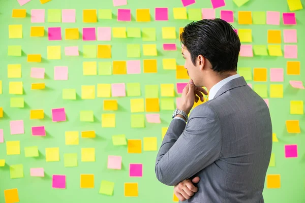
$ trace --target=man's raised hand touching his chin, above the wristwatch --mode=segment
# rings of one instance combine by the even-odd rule
[[[205,89],[202,87],[195,87],[193,80],[190,80],[182,91],[179,110],[189,114],[195,101],[197,103],[199,98],[201,101],[203,101],[203,94],[207,95]]]

